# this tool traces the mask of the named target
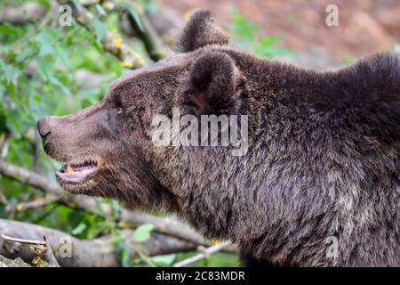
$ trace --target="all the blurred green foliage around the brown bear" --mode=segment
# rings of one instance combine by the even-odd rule
[[[0,9],[32,1],[35,0],[2,0]],[[123,2],[115,1],[116,4]],[[50,7],[51,0],[36,0],[36,3]],[[140,0],[132,2],[129,11],[142,27],[140,12],[156,12],[156,9],[155,1]],[[94,33],[76,23],[71,27],[60,27],[57,15],[51,13],[42,20],[24,26],[0,25],[0,145],[8,138],[10,148],[5,159],[21,167],[35,169],[52,181],[54,170],[60,164],[44,155],[36,134],[36,120],[49,114],[66,115],[99,102],[107,94],[111,81],[126,71],[121,62],[106,53],[100,44],[107,31],[118,28],[118,14],[107,15],[100,4],[93,5],[90,11],[95,15]],[[231,32],[236,45],[266,57],[293,54],[277,46],[280,37],[261,37],[257,24],[244,18],[234,7],[231,12]],[[130,45],[149,62],[139,41],[132,40]],[[83,89],[77,81],[77,71],[101,76],[103,81],[96,88]],[[80,239],[111,234],[124,266],[171,266],[196,254],[148,257],[139,247],[136,252],[139,258],[132,259],[119,231],[124,225],[117,224],[113,216],[101,218],[58,203],[10,212],[5,204],[15,208],[20,202],[42,198],[43,193],[1,176],[0,186],[0,217],[59,229]],[[108,202],[114,215],[119,215],[121,205],[118,202],[100,200]],[[98,210],[101,213],[102,209]],[[140,225],[133,234],[133,240],[145,242],[153,229],[152,224]],[[239,263],[235,255],[217,253],[194,265],[237,266]]]

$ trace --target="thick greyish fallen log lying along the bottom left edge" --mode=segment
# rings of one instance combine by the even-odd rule
[[[42,244],[41,237],[52,249],[60,266],[121,266],[118,259],[115,238],[111,235],[94,240],[79,240],[66,232],[45,228],[36,224],[21,223],[0,219],[0,232],[6,239],[0,239],[0,255],[8,258],[21,257],[31,262],[36,256],[28,247],[20,242],[37,242]],[[176,252],[193,250],[196,245],[183,240],[175,239],[153,232],[151,238],[145,242],[133,241],[133,230],[121,230],[122,242],[132,258],[139,257],[138,252],[145,252],[148,256],[158,256]],[[12,240],[9,240],[12,236]]]

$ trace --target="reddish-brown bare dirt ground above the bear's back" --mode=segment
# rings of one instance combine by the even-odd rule
[[[327,54],[342,62],[393,48],[400,42],[400,0],[162,0],[184,15],[195,8],[215,12],[228,27],[229,4],[259,23],[265,35],[300,53]],[[339,26],[325,24],[328,4],[339,8]]]

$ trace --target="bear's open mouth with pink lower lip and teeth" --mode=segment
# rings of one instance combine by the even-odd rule
[[[63,183],[84,183],[99,171],[96,161],[84,161],[80,164],[65,164],[56,172],[57,178]]]

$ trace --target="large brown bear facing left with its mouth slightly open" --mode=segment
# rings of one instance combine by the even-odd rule
[[[248,150],[155,144],[154,118],[174,108],[191,119],[247,116]],[[198,11],[180,53],[37,125],[44,151],[65,163],[64,189],[178,213],[205,237],[235,242],[245,265],[400,266],[394,54],[300,69],[228,46],[212,13]]]

